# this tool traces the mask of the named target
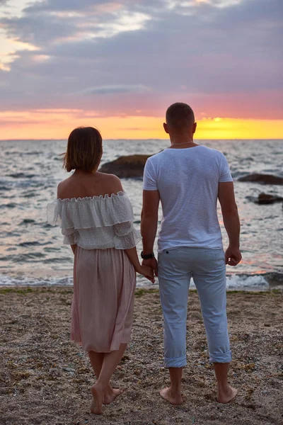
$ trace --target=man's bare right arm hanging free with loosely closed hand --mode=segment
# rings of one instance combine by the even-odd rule
[[[229,266],[236,266],[242,259],[240,251],[240,220],[236,205],[233,181],[219,183],[218,198],[221,205],[224,226],[229,237],[225,260]]]

